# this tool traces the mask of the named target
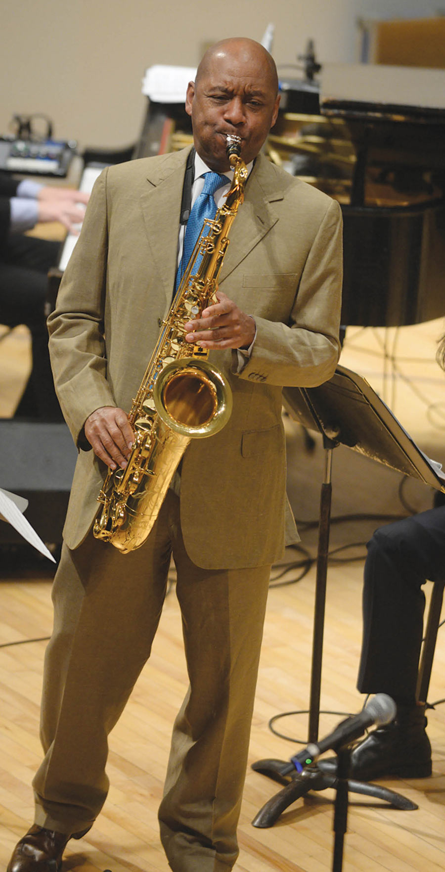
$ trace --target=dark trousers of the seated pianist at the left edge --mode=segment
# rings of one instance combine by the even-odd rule
[[[48,269],[57,262],[58,242],[11,234],[0,252],[0,323],[31,330],[32,369],[16,414],[61,420],[48,353],[45,300]]]

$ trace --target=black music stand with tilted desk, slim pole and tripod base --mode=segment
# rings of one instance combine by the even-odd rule
[[[317,576],[312,641],[311,695],[309,704],[309,742],[317,742],[321,688],[321,662],[325,623],[325,590],[332,497],[332,451],[339,445],[352,448],[366,457],[392,467],[404,475],[424,481],[425,484],[445,491],[445,475],[439,464],[421,452],[387,405],[373,392],[365,378],[338,366],[334,376],[324,385],[314,388],[284,388],[284,407],[308,430],[323,436],[325,447],[325,476],[321,485],[318,528]],[[285,787],[273,796],[252,821],[254,827],[273,826],[279,815],[292,802],[310,790],[337,787],[337,776],[322,773],[317,766],[309,766],[302,773],[291,774],[289,761],[258,760],[252,764],[256,772],[268,775]],[[366,794],[386,800],[392,806],[411,810],[414,802],[387,787],[371,782],[349,779],[347,787],[353,793]]]

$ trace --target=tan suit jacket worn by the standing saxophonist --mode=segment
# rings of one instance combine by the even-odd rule
[[[83,425],[100,406],[130,409],[171,304],[187,156],[188,149],[104,171],[49,318],[58,398],[79,446],[64,531],[70,548],[91,528],[106,472],[83,450]],[[339,205],[260,155],[220,280],[255,317],[256,341],[242,371],[236,351],[211,352],[229,378],[233,412],[220,433],[192,440],[182,462],[181,527],[199,566],[260,566],[283,553],[281,388],[333,374],[341,249]],[[288,532],[288,541],[298,540],[292,522]]]

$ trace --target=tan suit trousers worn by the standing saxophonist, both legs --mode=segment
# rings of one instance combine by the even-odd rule
[[[121,555],[92,535],[75,551],[63,548],[45,656],[36,823],[71,834],[99,814],[107,735],[149,657],[172,552],[190,684],[175,720],[161,841],[174,872],[227,872],[238,853],[270,567],[196,567],[172,492],[133,553]]]

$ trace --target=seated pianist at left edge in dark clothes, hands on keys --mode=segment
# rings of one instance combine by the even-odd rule
[[[60,221],[72,230],[82,221],[88,194],[0,174],[0,324],[31,330],[32,369],[16,415],[62,420],[54,392],[45,299],[48,269],[58,262],[59,243],[24,235],[38,221]]]

